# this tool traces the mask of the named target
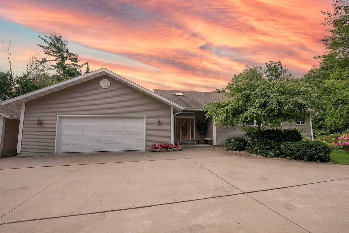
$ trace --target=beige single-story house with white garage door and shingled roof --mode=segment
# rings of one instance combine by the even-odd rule
[[[219,93],[147,90],[105,68],[45,87],[1,105],[21,107],[18,157],[65,152],[147,150],[155,143],[201,139],[205,102]],[[216,128],[206,120],[214,145],[239,128]],[[302,122],[303,123],[303,122]],[[311,128],[309,122],[301,127]],[[308,130],[310,131],[310,130]],[[308,136],[311,136],[309,134]]]

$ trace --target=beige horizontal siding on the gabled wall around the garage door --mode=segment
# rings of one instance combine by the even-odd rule
[[[101,88],[102,79],[110,87]],[[21,153],[54,153],[57,115],[145,115],[146,149],[171,142],[170,106],[111,77],[95,78],[25,104]],[[38,127],[37,119],[42,120]],[[157,120],[161,124],[157,126]]]

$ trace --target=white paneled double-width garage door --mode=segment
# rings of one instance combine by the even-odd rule
[[[144,150],[144,117],[59,117],[57,153]]]

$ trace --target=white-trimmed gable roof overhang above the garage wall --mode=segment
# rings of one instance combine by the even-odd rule
[[[177,103],[174,103],[174,102],[164,98],[163,96],[157,95],[156,93],[149,91],[148,89],[143,88],[140,85],[138,85],[134,82],[131,82],[128,79],[111,72],[110,70],[107,70],[106,68],[98,69],[98,70],[92,71],[90,73],[83,74],[83,75],[77,76],[75,78],[70,78],[69,80],[59,82],[59,83],[53,84],[51,86],[48,86],[48,87],[45,87],[42,89],[32,91],[32,92],[29,92],[29,93],[21,95],[21,96],[17,96],[17,97],[12,98],[12,99],[5,100],[5,101],[1,102],[1,105],[15,107],[15,106],[18,106],[22,103],[28,102],[30,100],[34,100],[34,99],[49,95],[53,92],[66,89],[66,88],[72,87],[76,84],[80,84],[80,83],[83,83],[83,82],[86,82],[86,81],[89,81],[89,80],[92,80],[94,78],[101,77],[104,75],[109,76],[111,78],[114,78],[115,80],[117,80],[121,83],[124,83],[124,84],[128,85],[129,87],[132,87],[136,90],[139,90],[140,92],[143,92],[144,94],[151,96],[151,97],[153,97],[153,98],[155,98],[155,99],[157,99],[165,104],[168,104],[168,105],[175,107],[175,108],[179,108],[180,110],[183,109],[183,107],[178,105]]]

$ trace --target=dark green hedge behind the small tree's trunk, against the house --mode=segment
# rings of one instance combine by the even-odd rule
[[[251,141],[258,139],[257,127],[244,127],[243,131]],[[272,129],[262,128],[262,138],[275,142],[298,142],[303,139],[302,134],[298,129]]]

